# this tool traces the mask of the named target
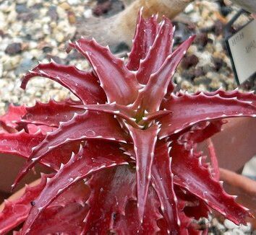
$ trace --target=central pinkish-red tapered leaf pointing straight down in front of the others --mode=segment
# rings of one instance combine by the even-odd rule
[[[148,187],[151,179],[151,167],[154,159],[155,143],[157,141],[158,126],[153,125],[146,130],[139,130],[128,126],[132,136],[136,156],[137,177],[137,208],[142,223],[147,201]]]

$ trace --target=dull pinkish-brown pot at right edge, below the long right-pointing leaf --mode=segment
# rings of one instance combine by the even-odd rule
[[[229,118],[223,131],[213,136],[212,141],[218,158],[218,165],[232,172],[239,172],[244,164],[256,156],[256,119]],[[207,143],[199,148],[208,154]]]

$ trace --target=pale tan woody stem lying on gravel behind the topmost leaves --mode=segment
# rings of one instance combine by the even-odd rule
[[[78,32],[79,35],[85,37],[95,37],[99,43],[105,45],[114,45],[121,42],[131,45],[137,14],[141,7],[143,7],[144,17],[158,13],[159,16],[165,15],[173,19],[192,1],[194,0],[136,0],[127,6],[124,11],[108,19],[94,18],[88,25],[80,22],[77,25]]]

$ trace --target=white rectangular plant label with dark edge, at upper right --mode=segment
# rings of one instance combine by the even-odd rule
[[[237,84],[256,74],[256,20],[226,40]]]

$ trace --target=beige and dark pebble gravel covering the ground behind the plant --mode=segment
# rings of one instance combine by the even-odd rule
[[[88,62],[73,52],[65,53],[65,43],[76,35],[77,19],[90,21],[93,12],[104,14],[106,5],[96,8],[96,1],[88,0],[16,0],[0,1],[0,113],[10,103],[32,106],[35,99],[47,102],[50,97],[61,100],[69,97],[67,89],[48,79],[30,81],[26,91],[20,89],[20,78],[38,61],[46,63],[53,58],[58,63],[75,64],[77,68],[89,68]],[[122,7],[119,1],[111,1],[112,11]],[[218,4],[218,2],[220,4]],[[236,88],[231,62],[223,42],[223,27],[237,12],[229,1],[195,1],[183,14],[184,22],[176,24],[176,42],[192,33],[197,34],[174,79],[181,89],[189,92],[213,91],[218,87]],[[105,7],[105,9],[103,9]],[[241,17],[236,27],[241,27],[248,17]],[[113,50],[127,50],[116,45]],[[256,87],[256,81],[247,81],[242,89]],[[251,226],[236,226],[231,221],[220,223],[210,220],[209,234],[251,234]]]

